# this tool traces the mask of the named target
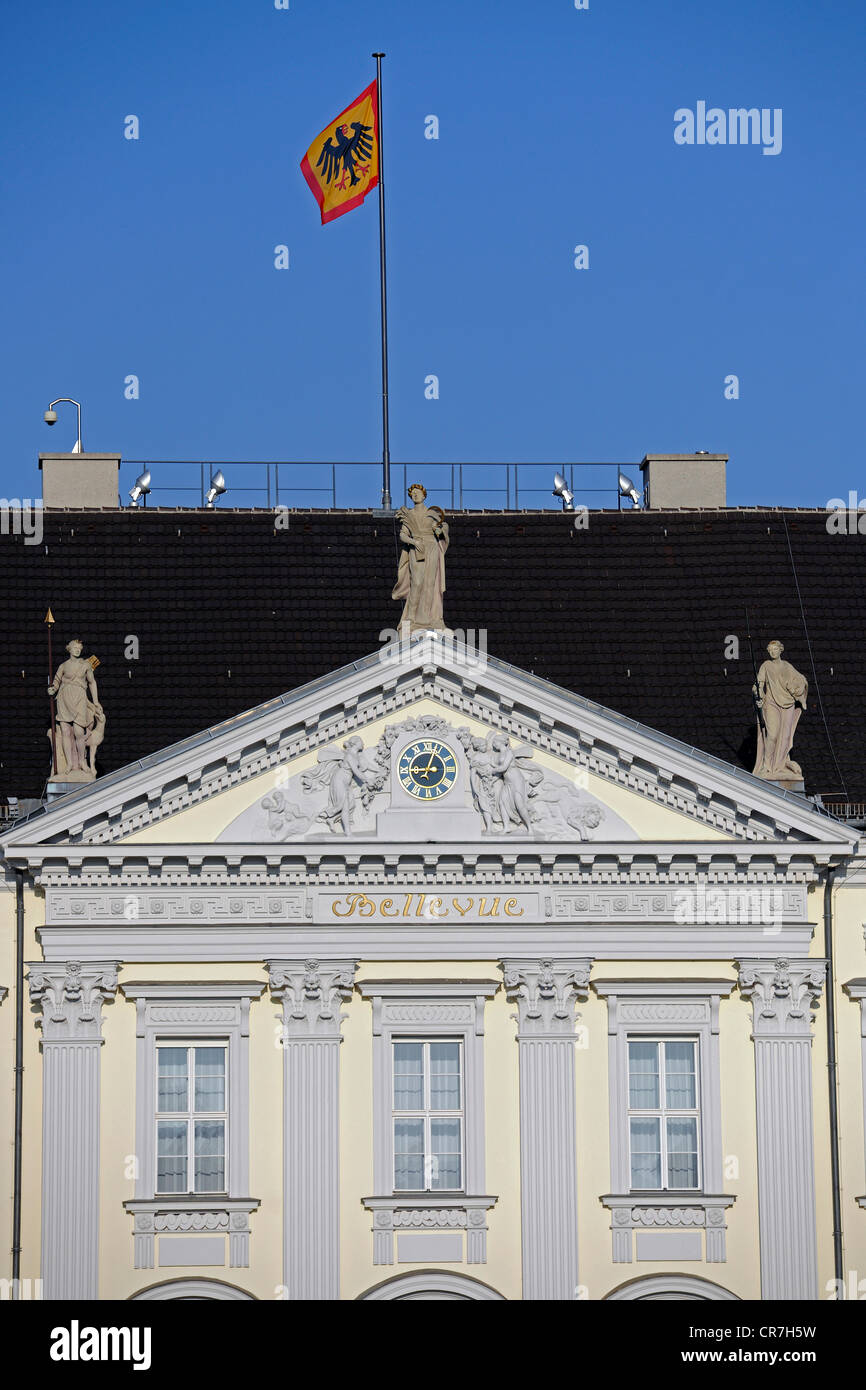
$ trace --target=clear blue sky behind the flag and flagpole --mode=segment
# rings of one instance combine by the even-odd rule
[[[737,505],[866,493],[862,0],[7,0],[1,32],[6,496],[72,446],[60,395],[126,459],[379,457],[377,200],[321,227],[299,170],[374,49],[395,460],[709,449]],[[780,107],[781,153],[676,145],[698,101]]]

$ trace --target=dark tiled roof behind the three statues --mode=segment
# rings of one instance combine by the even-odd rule
[[[780,637],[809,678],[795,745],[806,791],[863,801],[866,538],[824,523],[599,512],[575,530],[550,512],[457,513],[446,620],[487,628],[493,656],[751,769],[748,605],[758,660]],[[111,771],[375,651],[400,612],[396,553],[393,523],[368,512],[289,513],[279,531],[270,512],[47,512],[43,545],[0,537],[0,798],[39,796],[47,776],[49,605],[54,663],[78,632],[100,657],[99,766]],[[131,635],[138,660],[124,655]],[[740,660],[726,656],[731,635]]]

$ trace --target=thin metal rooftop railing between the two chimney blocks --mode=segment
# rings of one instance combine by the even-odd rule
[[[322,463],[317,460],[264,461],[250,459],[124,459],[121,503],[139,474],[152,475],[146,505],[203,507],[211,477],[221,471],[227,491],[217,506],[224,507],[359,507],[377,509],[382,496],[382,464],[366,461]],[[449,512],[562,510],[553,495],[553,478],[562,474],[574,506],[623,506],[619,475],[626,473],[641,491],[639,464],[631,463],[392,463],[391,491],[395,506],[406,500],[406,489],[420,481],[428,500]],[[631,502],[626,500],[626,509]]]

